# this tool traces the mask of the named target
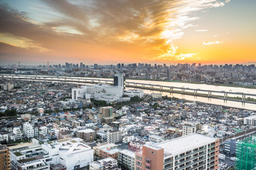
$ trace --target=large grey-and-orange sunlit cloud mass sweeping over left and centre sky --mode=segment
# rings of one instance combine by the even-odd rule
[[[119,55],[129,53],[140,57],[140,60],[145,56],[153,60],[193,57],[197,52],[170,53],[174,50],[175,40],[183,37],[184,29],[195,27],[193,21],[199,19],[195,12],[228,3],[224,0],[41,2],[32,4],[31,8],[41,9],[38,12],[54,17],[40,23],[33,21],[30,13],[0,4],[0,23],[3,23],[0,33],[23,40],[27,49],[46,52],[48,56],[74,58],[75,55],[84,57],[84,60],[100,60],[110,50],[114,55],[117,51]],[[105,50],[102,56],[96,55],[100,47]],[[93,51],[95,49],[97,51]]]

